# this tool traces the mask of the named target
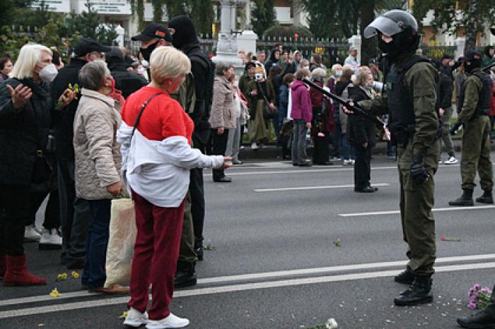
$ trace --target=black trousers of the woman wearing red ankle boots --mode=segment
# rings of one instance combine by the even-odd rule
[[[24,222],[29,206],[29,186],[0,185],[0,253],[24,254]],[[1,211],[3,210],[3,211]]]

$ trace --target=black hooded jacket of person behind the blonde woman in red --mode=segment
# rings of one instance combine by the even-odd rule
[[[194,135],[206,144],[209,135],[209,110],[213,97],[213,79],[211,77],[213,77],[214,67],[209,57],[201,49],[191,18],[177,16],[168,22],[168,28],[175,29],[173,46],[186,54],[191,61],[191,71],[196,89],[196,104],[194,112],[190,116],[194,121]]]

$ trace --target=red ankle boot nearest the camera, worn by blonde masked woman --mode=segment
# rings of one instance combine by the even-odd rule
[[[33,286],[47,284],[47,280],[28,272],[25,268],[25,255],[6,256],[6,265],[4,286]]]

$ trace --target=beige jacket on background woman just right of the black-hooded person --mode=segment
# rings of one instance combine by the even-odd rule
[[[234,112],[234,95],[231,83],[222,76],[215,76],[209,119],[211,128],[235,128]]]

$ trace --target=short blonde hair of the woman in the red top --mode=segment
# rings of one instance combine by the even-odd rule
[[[191,61],[174,47],[158,47],[151,53],[149,68],[151,80],[161,85],[165,79],[190,73]]]

